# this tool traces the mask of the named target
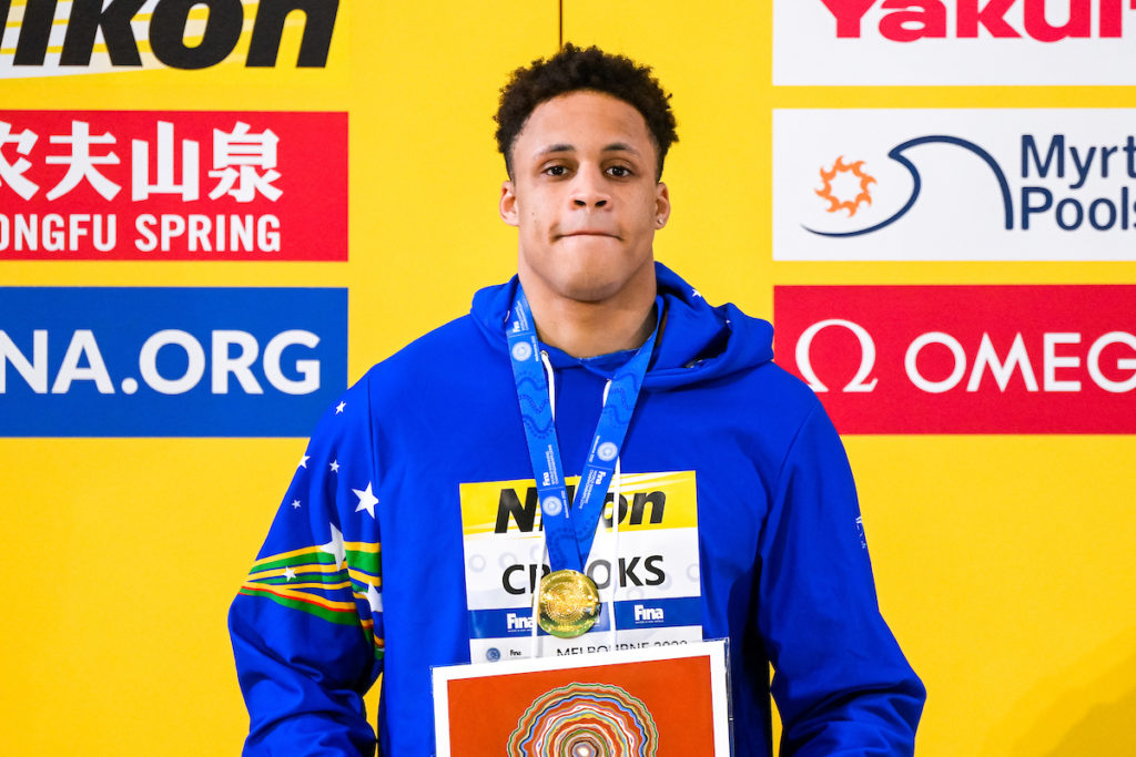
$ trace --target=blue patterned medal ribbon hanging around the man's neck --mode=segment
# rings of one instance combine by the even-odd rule
[[[512,375],[517,382],[517,399],[525,426],[528,455],[533,462],[544,538],[549,546],[549,562],[553,571],[570,569],[583,573],[587,555],[592,552],[596,524],[603,513],[603,501],[608,496],[611,474],[616,469],[627,427],[635,411],[646,365],[651,361],[659,321],[662,314],[662,298],[655,298],[655,327],[651,336],[611,378],[608,397],[600,411],[587,461],[580,473],[575,503],[568,502],[565,486],[563,465],[560,462],[560,446],[557,444],[557,427],[552,419],[549,385],[541,362],[536,325],[528,306],[525,292],[517,286],[517,295],[506,326]],[[613,514],[618,516],[619,503],[615,503]]]

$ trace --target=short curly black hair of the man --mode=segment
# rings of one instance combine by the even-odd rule
[[[501,87],[501,102],[493,119],[498,123],[498,150],[504,155],[509,176],[512,176],[513,142],[533,110],[558,95],[578,90],[610,94],[640,111],[659,157],[655,177],[662,177],[667,150],[678,142],[670,94],[651,75],[650,66],[641,66],[625,56],[609,54],[596,47],[580,49],[571,43],[546,60],[537,59],[527,68],[518,68]]]

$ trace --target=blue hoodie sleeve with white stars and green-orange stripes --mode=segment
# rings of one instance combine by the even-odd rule
[[[366,380],[319,422],[229,609],[244,755],[373,755],[382,567]]]

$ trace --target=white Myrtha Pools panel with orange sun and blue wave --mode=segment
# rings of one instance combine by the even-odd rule
[[[774,255],[1136,260],[1131,117],[776,111]]]

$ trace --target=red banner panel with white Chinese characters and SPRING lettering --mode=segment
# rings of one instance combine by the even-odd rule
[[[346,113],[0,111],[0,260],[346,260]]]

